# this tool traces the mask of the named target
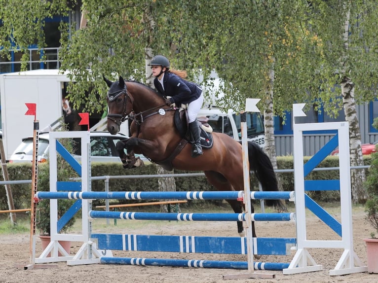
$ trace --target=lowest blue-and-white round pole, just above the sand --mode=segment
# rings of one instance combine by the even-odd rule
[[[168,258],[141,258],[141,257],[101,257],[102,264],[125,264],[144,266],[173,266],[194,268],[218,268],[218,269],[248,269],[246,261],[216,261],[216,260],[193,260],[193,259],[168,259]],[[258,270],[282,271],[289,263],[281,262],[255,262],[254,267]]]

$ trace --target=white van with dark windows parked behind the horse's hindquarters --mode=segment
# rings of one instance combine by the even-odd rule
[[[236,141],[241,140],[240,115],[229,110],[222,112],[219,108],[204,108],[198,112],[198,117],[209,118],[209,124],[213,132],[225,133]],[[259,112],[247,113],[248,140],[253,141],[264,148],[265,130],[264,120]]]

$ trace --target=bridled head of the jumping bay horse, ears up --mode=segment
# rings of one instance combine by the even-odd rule
[[[105,76],[103,77],[109,87],[107,95],[108,131],[114,135],[119,132],[121,123],[125,121],[126,116],[130,114],[133,105],[127,93],[126,83],[121,76],[114,82],[110,81]]]

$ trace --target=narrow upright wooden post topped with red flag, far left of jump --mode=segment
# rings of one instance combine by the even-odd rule
[[[46,265],[35,264],[36,258],[36,210],[38,201],[35,199],[35,195],[38,191],[38,131],[39,121],[37,120],[37,104],[26,103],[28,111],[25,115],[34,115],[34,127],[33,127],[33,165],[32,165],[32,196],[31,196],[31,210],[30,210],[30,245],[29,245],[29,264],[15,264],[15,267],[23,267],[27,269],[46,269],[57,268],[58,265]]]

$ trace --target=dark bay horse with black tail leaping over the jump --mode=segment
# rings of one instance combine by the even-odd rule
[[[167,170],[179,169],[203,171],[208,181],[220,191],[243,191],[242,146],[226,134],[212,133],[213,147],[204,149],[203,155],[191,157],[191,145],[183,140],[175,126],[175,110],[165,105],[164,99],[150,87],[135,81],[110,81],[107,102],[108,131],[116,134],[121,122],[132,119],[131,137],[117,144],[122,162],[132,161],[135,153],[144,154],[152,162]],[[190,139],[189,139],[190,140]],[[127,149],[127,156],[123,149]],[[255,143],[248,142],[250,170],[260,181],[264,191],[277,191],[277,179],[265,152]],[[241,213],[243,204],[227,200],[235,213]],[[266,204],[286,210],[279,200],[267,200]],[[251,212],[254,212],[252,207]],[[237,223],[238,233],[243,236],[242,222]],[[256,237],[252,223],[253,237]]]

